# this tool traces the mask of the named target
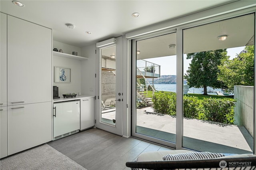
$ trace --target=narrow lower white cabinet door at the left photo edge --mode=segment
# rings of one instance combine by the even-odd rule
[[[7,156],[7,107],[0,107],[0,158]]]

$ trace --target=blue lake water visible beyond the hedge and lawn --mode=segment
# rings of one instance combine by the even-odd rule
[[[157,91],[171,91],[176,93],[176,84],[154,84]],[[207,87],[207,91],[221,91],[221,89],[213,89],[212,87]],[[190,88],[188,93],[203,94],[204,88]],[[208,93],[208,92],[207,92]],[[217,93],[208,93],[209,95],[217,95]]]

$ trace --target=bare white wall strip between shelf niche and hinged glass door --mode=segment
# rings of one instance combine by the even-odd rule
[[[83,57],[88,60],[82,61],[81,65],[81,92],[82,95],[96,96],[96,45],[88,45],[81,49]]]

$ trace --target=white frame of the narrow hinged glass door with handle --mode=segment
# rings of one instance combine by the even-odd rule
[[[116,99],[121,101],[116,102],[116,126],[103,123],[101,121],[101,49],[116,46]],[[96,43],[96,115],[95,127],[108,132],[123,135],[123,37],[112,38],[103,42]],[[118,96],[118,93],[122,95]]]

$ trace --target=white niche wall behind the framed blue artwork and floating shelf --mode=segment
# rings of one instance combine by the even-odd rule
[[[57,49],[63,49],[64,53],[69,53],[68,51],[77,51],[78,55],[81,54],[81,49],[79,47],[74,47],[72,45],[60,43],[53,41],[53,47]],[[70,81],[71,83],[54,83],[54,66],[66,67],[71,69]],[[59,96],[65,93],[78,93],[81,92],[81,61],[76,59],[69,59],[64,57],[57,57],[53,55],[53,68],[52,68],[52,82],[54,86],[59,87]]]

